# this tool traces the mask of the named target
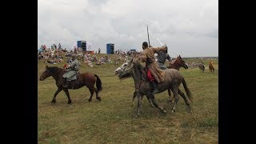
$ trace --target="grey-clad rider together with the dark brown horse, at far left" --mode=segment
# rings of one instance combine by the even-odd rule
[[[44,81],[46,78],[53,77],[56,81],[56,86],[58,90],[54,94],[52,103],[56,102],[56,97],[58,93],[62,90],[66,93],[68,98],[68,103],[71,103],[71,98],[68,89],[80,89],[83,86],[86,86],[90,90],[90,98],[88,99],[91,102],[94,92],[96,93],[96,98],[101,101],[102,98],[98,96],[99,91],[102,90],[102,81],[97,74],[92,74],[90,72],[78,73],[80,63],[76,59],[76,55],[72,55],[72,64],[67,66],[66,69],[59,68],[58,66],[46,66],[46,70],[41,74],[40,81]],[[64,82],[66,81],[66,82]],[[72,81],[72,83],[70,83]],[[74,82],[73,82],[74,81]],[[96,84],[96,87],[94,85]],[[65,86],[63,86],[65,85]]]

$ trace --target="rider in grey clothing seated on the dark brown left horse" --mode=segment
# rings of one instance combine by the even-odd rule
[[[66,67],[66,73],[63,74],[64,82],[63,82],[63,87],[67,88],[70,87],[70,82],[72,80],[77,79],[77,74],[79,70],[79,65],[80,62],[78,62],[77,55],[73,54],[72,56],[72,63],[70,66]]]

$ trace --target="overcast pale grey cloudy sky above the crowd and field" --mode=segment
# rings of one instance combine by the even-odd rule
[[[102,53],[106,43],[142,50],[146,26],[171,57],[218,56],[218,0],[38,0],[38,48],[85,40]]]

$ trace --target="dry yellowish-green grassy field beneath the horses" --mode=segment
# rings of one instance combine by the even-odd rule
[[[114,59],[114,55],[110,58]],[[187,62],[193,60],[187,59]],[[166,115],[151,107],[145,97],[141,117],[136,118],[137,99],[135,105],[131,105],[134,81],[132,78],[120,81],[114,75],[118,67],[114,63],[94,67],[82,64],[80,70],[101,78],[102,102],[95,94],[92,102],[88,102],[90,91],[83,87],[69,90],[71,105],[67,104],[63,91],[52,105],[50,102],[57,90],[54,78],[38,80],[38,143],[218,143],[218,61],[214,60],[214,74],[209,72],[208,61],[205,64],[205,73],[198,68],[180,70],[194,97],[192,113],[180,97],[172,114],[173,104],[166,102],[169,96],[165,91],[155,94],[155,98],[166,108]],[[45,66],[38,61],[38,79]],[[183,86],[180,89],[185,91]]]

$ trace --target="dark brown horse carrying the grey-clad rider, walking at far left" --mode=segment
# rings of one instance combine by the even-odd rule
[[[70,87],[64,88],[63,85],[63,78],[62,75],[65,74],[66,71],[58,68],[57,66],[46,66],[46,70],[41,74],[40,76],[40,81],[45,80],[46,78],[52,76],[55,81],[56,81],[56,86],[58,87],[58,90],[54,94],[54,98],[51,101],[51,103],[56,102],[56,96],[57,94],[64,90],[66,93],[67,98],[69,101],[67,102],[68,104],[71,104],[71,99],[70,99],[70,93],[68,89],[79,89],[82,86],[86,86],[90,90],[90,98],[89,102],[91,101],[91,98],[93,97],[94,92],[96,93],[96,98],[101,101],[102,99],[98,96],[98,92],[102,90],[102,81],[100,78],[98,78],[97,74],[90,74],[90,73],[82,73],[78,74],[77,80],[70,82]],[[96,82],[96,87],[94,87],[94,84]]]

